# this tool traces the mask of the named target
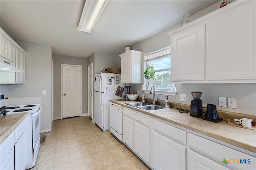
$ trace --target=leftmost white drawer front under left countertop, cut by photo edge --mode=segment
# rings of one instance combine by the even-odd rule
[[[3,162],[4,158],[12,149],[14,149],[14,132],[12,132],[0,145],[0,163]]]

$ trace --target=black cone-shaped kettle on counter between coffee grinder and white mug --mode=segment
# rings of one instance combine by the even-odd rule
[[[215,123],[223,120],[223,118],[220,118],[217,113],[216,105],[209,103],[207,103],[207,110],[205,116],[201,117],[201,119],[213,121]]]

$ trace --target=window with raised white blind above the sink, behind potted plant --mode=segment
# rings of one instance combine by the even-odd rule
[[[170,46],[145,55],[145,68],[151,63],[154,66],[155,78],[149,84],[156,91],[175,92],[176,84],[171,83],[171,50]]]

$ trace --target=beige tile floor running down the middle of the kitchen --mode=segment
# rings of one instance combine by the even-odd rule
[[[52,132],[41,137],[36,165],[30,170],[150,169],[87,116],[55,120]]]

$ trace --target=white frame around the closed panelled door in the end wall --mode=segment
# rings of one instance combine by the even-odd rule
[[[82,65],[60,64],[60,119],[63,119],[63,66],[80,67],[80,116],[82,116]]]

